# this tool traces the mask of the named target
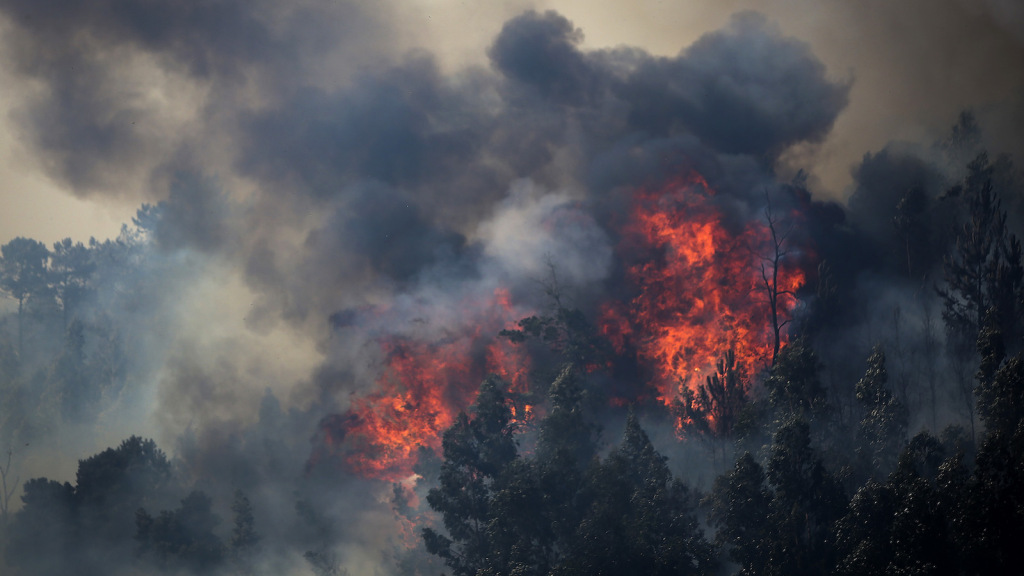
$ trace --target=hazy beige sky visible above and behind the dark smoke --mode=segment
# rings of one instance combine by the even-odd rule
[[[1018,153],[1022,148],[1018,136],[1024,125],[1024,4],[1014,0],[416,0],[390,7],[366,4],[373,6],[368,11],[385,23],[390,34],[380,45],[362,42],[361,49],[371,46],[369,51],[383,58],[425,49],[439,58],[445,71],[456,72],[470,65],[487,66],[486,48],[502,24],[527,8],[555,9],[565,15],[582,29],[587,49],[629,45],[664,55],[674,55],[701,34],[721,28],[734,12],[761,11],[784,34],[808,42],[830,78],[852,80],[849,106],[824,142],[783,156],[782,162],[812,173],[812,186],[819,195],[844,197],[850,168],[865,152],[893,139],[933,140],[964,107],[977,112],[994,146]],[[17,24],[5,17],[0,22],[4,22],[0,33],[8,40],[17,38]],[[330,34],[327,28],[317,33]],[[60,175],[54,177],[54,159],[33,145],[34,138],[37,142],[51,139],[46,133],[33,136],[24,122],[26,111],[45,86],[38,76],[26,74],[15,64],[28,57],[19,52],[18,44],[5,44],[0,65],[4,86],[0,92],[0,242],[15,236],[47,243],[68,236],[76,240],[116,236],[141,202],[166,194],[151,186],[147,170],[160,164],[162,155],[173,154],[175,143],[186,138],[187,132],[201,129],[198,124],[203,115],[191,107],[209,106],[217,95],[195,78],[175,77],[175,71],[161,68],[144,54],[119,54],[126,66],[116,78],[104,81],[123,83],[121,91],[138,100],[151,120],[157,120],[151,129],[159,133],[147,137],[143,149],[131,151],[136,155],[132,159],[136,170],[121,170],[117,178],[100,178],[83,187]],[[337,53],[324,54],[325,85],[347,81],[351,69],[337,65],[338,58]],[[369,61],[361,56],[356,59]],[[52,138],[73,134],[70,130]],[[216,137],[208,134],[206,139]],[[213,142],[211,147],[223,151],[224,157],[208,154],[208,169],[222,181],[233,177],[232,146]],[[97,188],[105,190],[99,193]],[[234,188],[242,190],[245,183]]]

